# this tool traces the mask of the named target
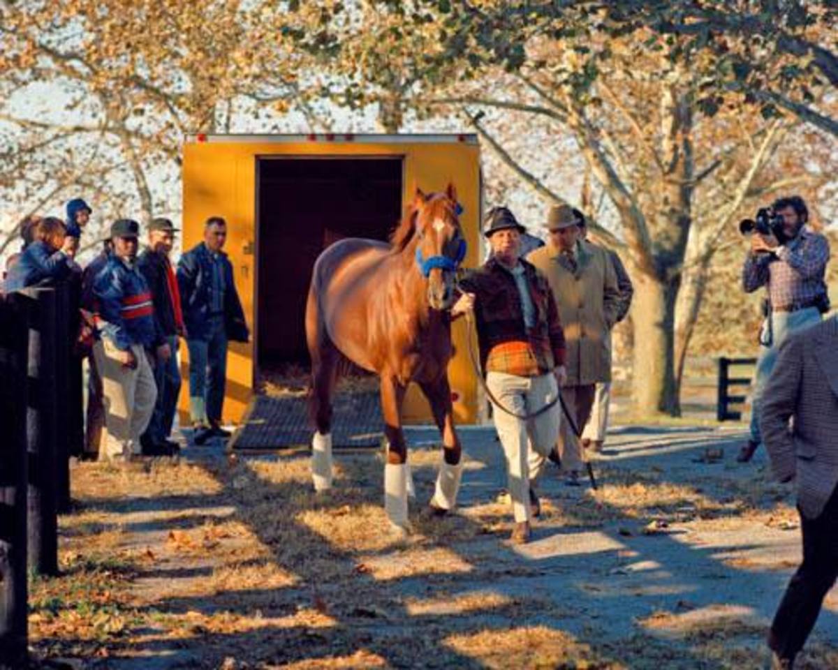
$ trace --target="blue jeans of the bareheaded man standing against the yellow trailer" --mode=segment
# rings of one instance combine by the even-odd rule
[[[219,424],[227,378],[227,333],[223,317],[209,323],[209,339],[189,348],[189,417],[193,424]]]

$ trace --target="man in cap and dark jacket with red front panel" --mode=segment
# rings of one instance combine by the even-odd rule
[[[176,453],[179,449],[177,442],[169,440],[180,392],[178,335],[186,335],[178,281],[168,260],[177,230],[168,219],[154,219],[148,226],[148,246],[137,260],[137,267],[152,291],[154,324],[158,338],[163,340],[154,353],[158,399],[152,420],[141,438],[143,451],[158,448]]]

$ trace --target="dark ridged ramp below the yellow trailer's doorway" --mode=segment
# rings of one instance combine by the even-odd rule
[[[377,392],[338,391],[335,394],[332,422],[335,449],[377,447],[383,428]],[[304,397],[257,395],[229,448],[232,451],[308,448],[312,433]]]

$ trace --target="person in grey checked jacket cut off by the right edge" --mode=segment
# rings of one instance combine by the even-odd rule
[[[838,575],[838,319],[790,332],[779,345],[760,435],[780,482],[795,482],[803,563],[768,633],[775,668],[794,666]]]

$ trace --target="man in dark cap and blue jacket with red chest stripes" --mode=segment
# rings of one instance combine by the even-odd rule
[[[106,455],[127,461],[142,454],[140,435],[151,420],[157,388],[147,349],[159,344],[151,291],[137,271],[139,224],[119,219],[111,225],[113,253],[96,276],[102,347],[96,367],[102,376],[106,407]]]

